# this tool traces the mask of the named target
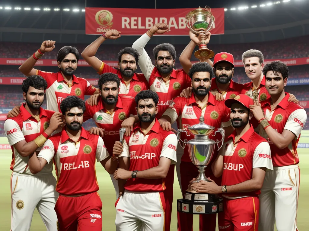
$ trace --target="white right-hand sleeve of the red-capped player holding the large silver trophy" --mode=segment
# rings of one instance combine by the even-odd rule
[[[268,142],[264,141],[257,145],[252,161],[252,168],[268,168],[269,170],[273,170],[273,161]]]

